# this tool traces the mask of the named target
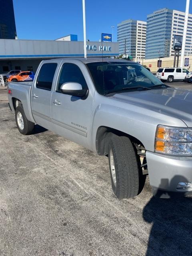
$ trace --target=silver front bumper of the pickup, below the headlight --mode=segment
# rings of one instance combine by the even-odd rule
[[[192,182],[192,156],[169,156],[146,152],[150,185],[153,189],[171,192],[192,192],[178,189],[179,182]]]

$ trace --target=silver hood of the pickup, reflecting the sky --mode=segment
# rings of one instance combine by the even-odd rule
[[[115,100],[141,106],[180,118],[192,127],[192,90],[180,88],[123,92],[112,96]]]

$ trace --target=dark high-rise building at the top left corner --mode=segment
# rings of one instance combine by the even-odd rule
[[[0,0],[0,38],[15,39],[17,36],[13,0]]]

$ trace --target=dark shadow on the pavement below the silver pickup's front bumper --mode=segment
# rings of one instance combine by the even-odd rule
[[[182,176],[172,180],[178,177]],[[183,178],[182,182],[187,180]],[[162,199],[164,194],[157,190],[143,210],[144,220],[152,223],[146,256],[191,255],[192,196],[166,192],[169,199]]]

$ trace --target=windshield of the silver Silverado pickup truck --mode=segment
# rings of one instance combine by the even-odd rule
[[[141,90],[163,83],[140,64],[130,62],[91,62],[87,64],[99,94]]]

